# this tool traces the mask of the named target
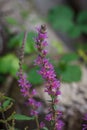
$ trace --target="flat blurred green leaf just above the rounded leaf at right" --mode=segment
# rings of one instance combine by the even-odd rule
[[[76,53],[67,53],[67,54],[64,54],[64,56],[62,56],[60,58],[60,61],[59,62],[71,62],[71,61],[76,61],[79,59],[79,56],[76,54]]]

